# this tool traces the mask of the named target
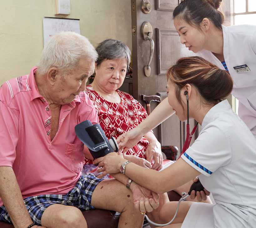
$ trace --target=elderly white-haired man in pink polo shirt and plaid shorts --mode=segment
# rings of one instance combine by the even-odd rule
[[[84,228],[81,210],[102,208],[121,212],[119,227],[135,228],[143,224],[136,210],[141,198],[140,206],[158,206],[155,193],[134,182],[133,197],[127,197],[128,178],[121,173],[119,181],[81,174],[84,145],[74,126],[99,121],[84,92],[96,59],[85,37],[59,33],[44,47],[38,67],[2,85],[0,221],[19,228]]]

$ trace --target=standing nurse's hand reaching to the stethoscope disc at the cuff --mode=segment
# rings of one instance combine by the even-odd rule
[[[143,137],[143,134],[141,133],[141,131],[138,127],[120,135],[116,139],[116,141],[118,143],[119,151],[120,151],[119,153],[121,153],[122,149],[124,149],[123,153],[125,154],[126,151],[128,151],[133,146],[135,146],[138,143],[138,141],[141,140],[142,137]]]

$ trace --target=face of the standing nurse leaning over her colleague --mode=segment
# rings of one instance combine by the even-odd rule
[[[185,22],[180,17],[174,19],[174,26],[179,33],[181,43],[185,44],[188,50],[197,53],[204,49],[206,43],[206,34]]]

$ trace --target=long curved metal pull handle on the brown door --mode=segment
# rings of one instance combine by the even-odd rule
[[[148,61],[148,65],[146,65],[144,67],[144,74],[149,77],[151,74],[151,68],[150,68],[150,63],[152,61],[153,58],[153,54],[154,54],[154,49],[155,49],[155,43],[152,39],[152,35],[153,35],[153,30],[152,30],[152,26],[149,22],[145,21],[143,22],[142,26],[141,26],[141,33],[142,33],[142,37],[144,38],[144,40],[149,40],[150,42],[150,56],[149,56],[149,61]]]

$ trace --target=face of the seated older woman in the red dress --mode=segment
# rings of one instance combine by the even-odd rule
[[[116,91],[124,82],[127,70],[127,60],[122,59],[106,59],[95,64],[95,79],[98,86],[106,92],[112,93]]]

